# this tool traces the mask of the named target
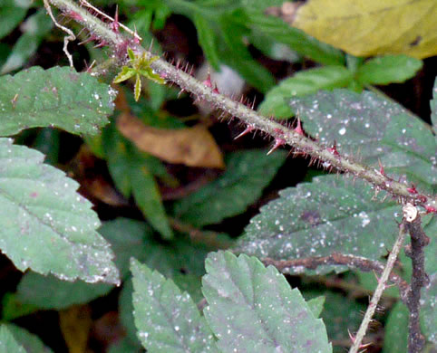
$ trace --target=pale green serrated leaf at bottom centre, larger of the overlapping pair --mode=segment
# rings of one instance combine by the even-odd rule
[[[204,315],[222,352],[332,352],[323,321],[275,267],[230,252],[205,267]]]

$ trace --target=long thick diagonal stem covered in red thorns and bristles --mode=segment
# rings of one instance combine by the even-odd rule
[[[90,14],[72,0],[48,1],[63,11],[63,14],[74,14],[72,18],[75,21],[87,28],[96,38],[111,46],[114,52],[120,52],[120,48],[125,50],[127,44],[129,44],[134,52],[145,53],[148,57],[154,56],[152,52],[134,43],[132,39],[129,40],[121,33],[112,31],[109,25],[103,23],[99,18]],[[437,196],[413,194],[408,190],[406,184],[385,176],[373,167],[361,165],[350,157],[343,157],[341,154],[333,153],[330,147],[323,146],[311,138],[306,138],[273,119],[257,114],[256,111],[248,108],[246,105],[218,93],[214,87],[208,87],[193,78],[189,73],[180,70],[180,68],[173,66],[163,59],[152,62],[151,68],[165,80],[178,84],[184,91],[189,91],[198,100],[208,101],[215,108],[222,110],[229,116],[238,117],[247,124],[248,129],[264,131],[279,142],[278,146],[287,144],[295,148],[295,154],[309,155],[324,161],[325,165],[350,173],[354,177],[362,178],[373,184],[376,191],[385,190],[393,197],[397,197],[403,204],[410,202],[413,205],[427,206],[428,209],[437,209]]]

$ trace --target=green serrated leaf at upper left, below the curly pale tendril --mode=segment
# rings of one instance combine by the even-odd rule
[[[108,122],[116,94],[88,73],[67,67],[32,67],[0,77],[0,86],[0,136],[47,126],[94,135]]]

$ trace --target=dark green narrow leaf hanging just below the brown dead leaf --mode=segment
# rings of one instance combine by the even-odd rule
[[[173,234],[160,198],[160,191],[149,170],[149,158],[122,138],[112,124],[103,132],[103,149],[108,167],[117,188],[135,202],[151,225],[165,239]]]

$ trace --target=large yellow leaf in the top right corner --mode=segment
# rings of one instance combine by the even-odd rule
[[[437,54],[436,0],[308,0],[269,13],[355,56]]]

